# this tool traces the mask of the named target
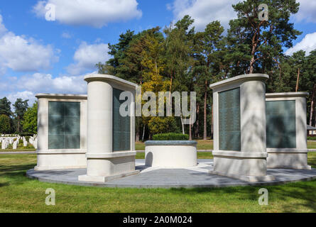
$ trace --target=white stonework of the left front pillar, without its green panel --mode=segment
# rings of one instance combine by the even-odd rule
[[[78,180],[106,182],[137,174],[139,171],[135,170],[135,150],[113,152],[112,126],[113,88],[133,93],[137,85],[104,74],[86,76],[85,81],[88,83],[87,175],[79,176]],[[133,116],[131,126],[134,126]],[[131,135],[134,135],[134,128],[131,128]]]

